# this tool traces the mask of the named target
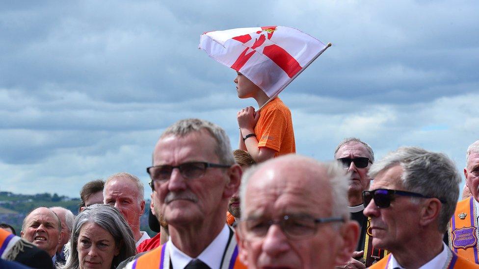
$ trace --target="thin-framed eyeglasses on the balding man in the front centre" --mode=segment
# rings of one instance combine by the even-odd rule
[[[279,220],[265,220],[261,218],[251,218],[241,220],[239,229],[241,229],[247,240],[261,240],[265,238],[269,227],[278,224],[288,239],[301,240],[313,236],[318,231],[319,223],[344,222],[343,217],[331,218],[313,218],[309,215],[285,215]]]

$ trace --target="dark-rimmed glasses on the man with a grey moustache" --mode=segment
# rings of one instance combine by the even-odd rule
[[[146,172],[150,174],[150,187],[155,190],[155,184],[163,183],[170,179],[173,169],[178,168],[181,176],[186,179],[200,178],[206,173],[207,168],[230,168],[231,165],[213,164],[207,162],[189,162],[183,163],[178,166],[171,165],[157,165],[151,166],[146,169]]]

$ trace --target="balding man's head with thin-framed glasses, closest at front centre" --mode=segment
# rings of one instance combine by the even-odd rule
[[[337,163],[298,155],[270,159],[242,177],[239,256],[249,269],[330,269],[346,262],[359,227],[346,208]]]

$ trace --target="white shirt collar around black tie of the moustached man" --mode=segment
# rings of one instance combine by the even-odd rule
[[[196,258],[189,257],[181,250],[179,250],[173,242],[171,237],[166,242],[166,247],[171,257],[171,264],[174,269],[185,268],[186,265],[193,259],[200,259],[210,268],[219,268],[221,266],[221,259],[223,258],[223,251],[226,249],[228,239],[230,237],[230,228],[225,224],[221,232],[216,236],[213,242],[208,245],[203,252]],[[218,255],[219,253],[219,255]]]

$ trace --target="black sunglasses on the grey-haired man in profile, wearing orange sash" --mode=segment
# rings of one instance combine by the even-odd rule
[[[369,203],[371,202],[371,200],[374,199],[374,204],[376,204],[376,207],[387,208],[391,205],[391,201],[394,200],[394,195],[420,197],[420,198],[436,198],[436,197],[425,196],[425,195],[413,193],[413,192],[388,190],[388,189],[376,189],[373,191],[363,191],[364,207],[367,207]],[[443,199],[439,199],[439,201],[441,201],[441,203],[444,203],[444,204],[446,203],[446,201]]]

